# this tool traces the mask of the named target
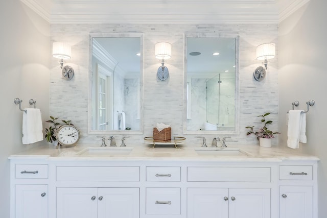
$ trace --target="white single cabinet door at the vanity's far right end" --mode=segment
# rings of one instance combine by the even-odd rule
[[[312,218],[312,204],[312,186],[279,187],[280,218]]]

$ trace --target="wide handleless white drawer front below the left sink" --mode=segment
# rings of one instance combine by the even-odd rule
[[[139,181],[139,167],[57,166],[57,181]]]

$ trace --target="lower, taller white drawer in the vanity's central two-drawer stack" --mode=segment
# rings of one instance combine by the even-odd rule
[[[180,214],[180,188],[147,188],[146,214]]]

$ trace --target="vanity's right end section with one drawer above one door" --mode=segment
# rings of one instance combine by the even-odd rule
[[[298,164],[298,165],[296,165]],[[316,164],[279,166],[279,217],[317,217]]]

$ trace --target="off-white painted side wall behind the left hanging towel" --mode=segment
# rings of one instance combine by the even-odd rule
[[[21,143],[22,112],[14,98],[37,101],[42,119],[49,116],[50,27],[20,1],[0,1],[1,113],[0,113],[0,216],[9,217],[9,160],[11,154],[41,143]]]

